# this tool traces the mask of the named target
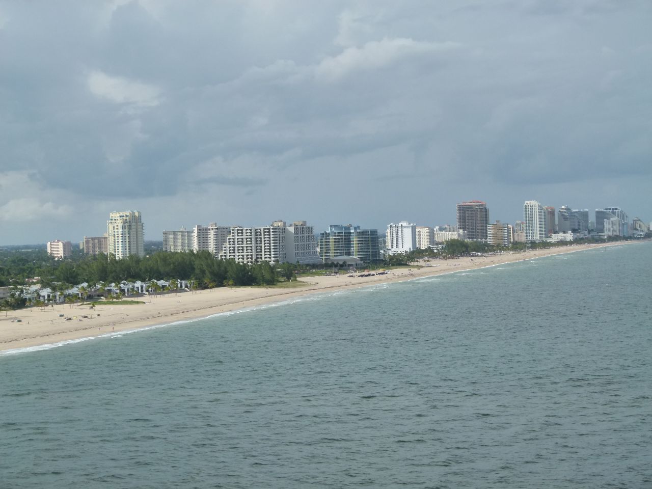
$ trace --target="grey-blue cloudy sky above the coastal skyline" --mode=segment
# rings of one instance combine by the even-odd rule
[[[0,244],[484,200],[652,220],[649,0],[0,0]]]

